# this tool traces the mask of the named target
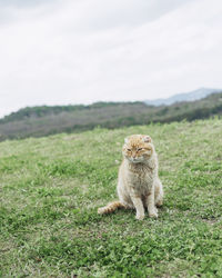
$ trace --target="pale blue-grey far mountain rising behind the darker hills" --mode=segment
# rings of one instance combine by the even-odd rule
[[[200,88],[191,92],[178,93],[167,99],[145,100],[144,102],[150,106],[162,106],[162,105],[170,106],[175,102],[194,101],[194,100],[203,99],[211,93],[216,93],[221,91],[222,90],[219,90],[219,89]]]

